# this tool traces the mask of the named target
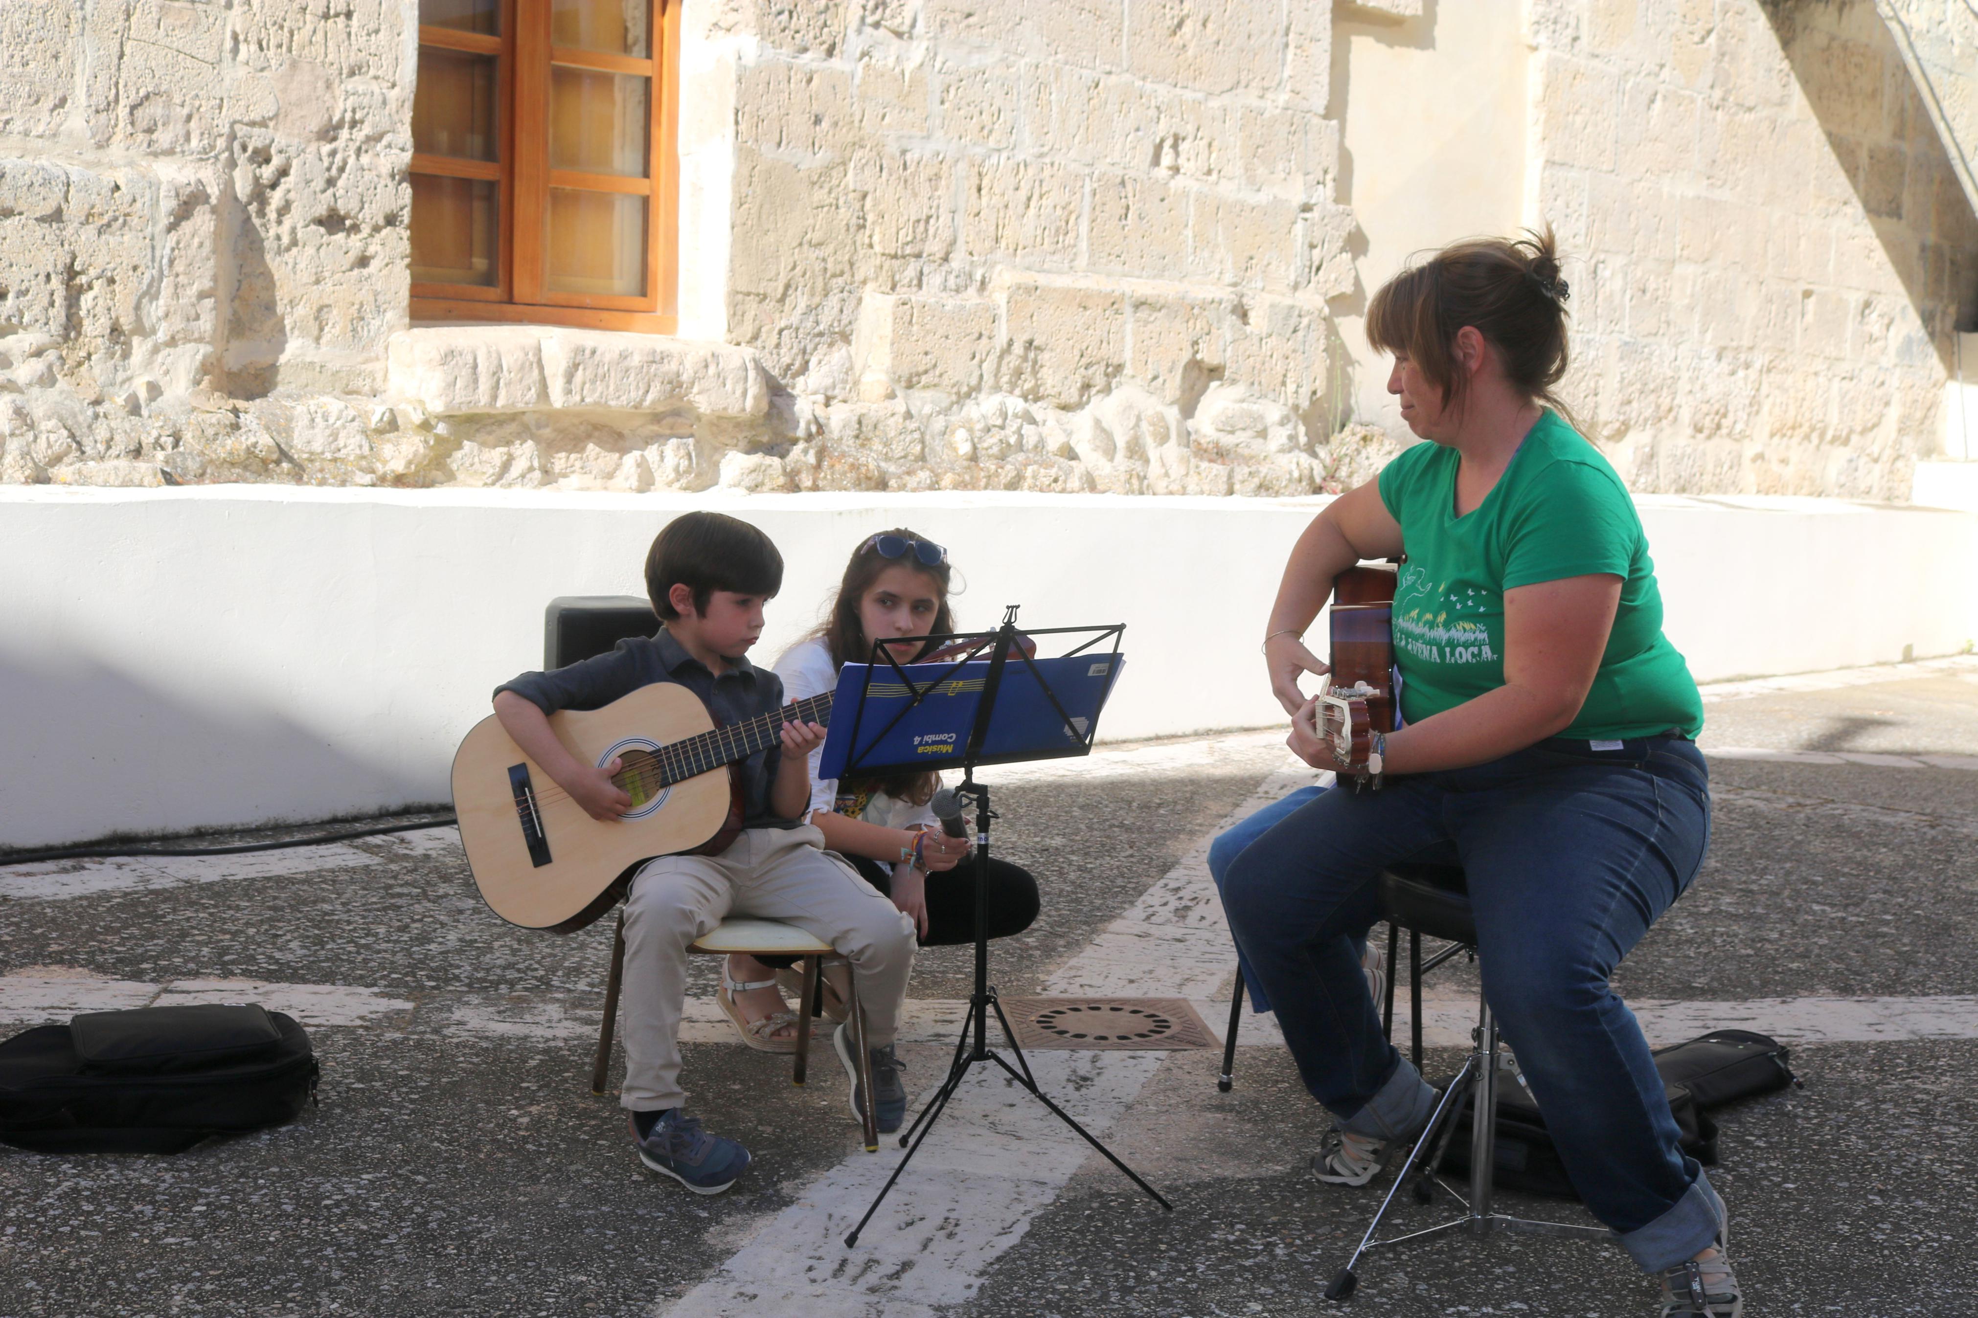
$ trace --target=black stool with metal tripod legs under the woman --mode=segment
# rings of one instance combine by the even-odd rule
[[[1414,939],[1424,933],[1432,939],[1448,939],[1454,947],[1440,952],[1436,956],[1438,962],[1446,960],[1454,952],[1476,952],[1476,919],[1470,911],[1470,891],[1464,881],[1464,871],[1458,865],[1393,865],[1381,875],[1381,907],[1387,911],[1391,927],[1406,927]],[[1416,954],[1416,962],[1420,962],[1420,954]],[[1414,1022],[1416,1039],[1420,1039],[1420,986],[1416,986]],[[1367,1235],[1361,1237],[1359,1249],[1353,1251],[1353,1257],[1347,1259],[1347,1265],[1339,1269],[1339,1275],[1325,1288],[1327,1300],[1345,1300],[1353,1294],[1353,1288],[1359,1284],[1353,1265],[1359,1263],[1361,1255],[1369,1249],[1422,1239],[1424,1235],[1436,1235],[1454,1227],[1470,1227],[1472,1235],[1489,1235],[1491,1231],[1525,1231],[1576,1239],[1614,1239],[1614,1233],[1606,1227],[1578,1227],[1563,1221],[1531,1221],[1527,1217],[1509,1217],[1505,1213],[1491,1211],[1499,1053],[1497,1020],[1491,1016],[1489,1000],[1484,998],[1484,994],[1478,994],[1478,1028],[1472,1037],[1476,1039],[1476,1047],[1470,1051],[1470,1057],[1464,1059],[1464,1065],[1456,1073],[1456,1079],[1450,1081],[1450,1087],[1442,1091],[1442,1101],[1436,1103],[1436,1111],[1428,1118],[1428,1126],[1414,1142],[1414,1148],[1408,1150],[1408,1160],[1400,1164],[1400,1174],[1389,1188],[1387,1197],[1381,1199],[1381,1209],[1373,1215],[1373,1221],[1367,1223]],[[1416,1069],[1420,1069],[1420,1063],[1416,1063]],[[1462,1195],[1456,1195],[1454,1190],[1450,1192],[1464,1205],[1464,1215],[1434,1227],[1377,1241],[1375,1231],[1381,1229],[1387,1209],[1394,1203],[1394,1195],[1400,1192],[1400,1186],[1408,1180],[1410,1172],[1420,1170],[1416,1197],[1422,1201],[1430,1197],[1430,1182],[1434,1180],[1436,1166],[1442,1162],[1442,1154],[1450,1146],[1450,1136],[1456,1132],[1456,1114],[1462,1111],[1466,1097],[1472,1099],[1470,1197],[1464,1199]],[[1448,1186],[1444,1186],[1444,1190],[1448,1190]]]

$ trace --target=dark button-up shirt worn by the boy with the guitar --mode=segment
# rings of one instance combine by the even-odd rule
[[[748,658],[730,660],[728,672],[714,676],[667,628],[653,638],[629,636],[609,654],[556,668],[524,672],[502,682],[494,694],[514,692],[544,713],[558,709],[601,709],[621,696],[653,682],[678,682],[700,698],[720,725],[740,723],[769,713],[783,703],[783,680],[767,668],[756,668]],[[637,729],[627,727],[631,735]],[[742,826],[797,828],[803,820],[787,820],[769,808],[769,784],[775,783],[783,747],[771,745],[740,763]]]

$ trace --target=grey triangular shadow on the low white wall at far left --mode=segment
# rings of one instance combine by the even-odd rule
[[[202,707],[95,658],[0,652],[0,848],[318,820],[431,796],[320,731],[225,701],[224,686]],[[322,808],[297,812],[305,794]]]

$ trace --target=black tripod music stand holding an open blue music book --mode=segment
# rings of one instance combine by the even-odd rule
[[[884,642],[872,646],[870,664],[847,664],[831,698],[831,731],[825,735],[825,757],[819,777],[884,777],[926,773],[930,769],[961,769],[955,794],[975,802],[975,992],[969,996],[969,1016],[955,1039],[955,1057],[947,1079],[900,1134],[906,1158],[892,1170],[864,1217],[845,1237],[858,1243],[858,1233],[892,1192],[900,1172],[934,1132],[969,1067],[995,1063],[1023,1085],[1086,1144],[1106,1154],[1106,1160],[1173,1211],[1173,1203],[1139,1174],[1100,1144],[1090,1130],[1072,1120],[1038,1089],[1031,1063],[1017,1043],[1003,1004],[989,986],[989,788],[975,781],[981,765],[1011,765],[1033,759],[1064,759],[1088,755],[1098,733],[1100,709],[1120,680],[1125,662],[1120,654],[1124,624],[1056,626],[1034,632],[1017,630],[1017,605],[1003,613],[1003,624],[993,632],[930,636],[928,646],[947,662],[900,664]],[[1038,638],[1064,638],[1066,654],[1038,658]],[[1102,648],[1104,646],[1104,648]],[[1003,1026],[1011,1065],[989,1047],[989,1014]]]

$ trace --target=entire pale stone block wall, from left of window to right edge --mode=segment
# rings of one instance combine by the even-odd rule
[[[1978,221],[1873,2],[1523,12],[1624,476],[1905,498]],[[682,338],[407,328],[415,16],[0,0],[0,480],[1304,494],[1396,451],[1339,429],[1333,0],[684,0]]]

